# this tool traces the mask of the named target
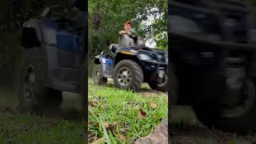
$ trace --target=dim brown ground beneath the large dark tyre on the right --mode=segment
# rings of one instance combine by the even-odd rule
[[[177,144],[254,144],[256,136],[240,136],[223,132],[222,130],[209,130],[196,118],[190,106],[175,106],[171,108],[170,143]]]

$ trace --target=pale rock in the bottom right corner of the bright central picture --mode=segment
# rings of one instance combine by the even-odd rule
[[[152,133],[144,138],[138,138],[134,144],[165,144],[168,143],[168,121],[164,120]]]

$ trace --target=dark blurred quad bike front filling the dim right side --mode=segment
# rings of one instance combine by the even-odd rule
[[[256,23],[242,1],[170,2],[170,99],[209,127],[256,128]]]

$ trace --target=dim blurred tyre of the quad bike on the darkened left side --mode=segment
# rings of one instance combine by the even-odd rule
[[[24,50],[18,67],[17,92],[22,113],[44,114],[46,109],[58,109],[62,103],[62,91],[44,86],[45,52],[38,47]]]

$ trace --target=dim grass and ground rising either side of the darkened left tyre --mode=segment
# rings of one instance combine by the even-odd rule
[[[65,95],[60,118],[20,114],[11,88],[0,87],[0,101],[0,143],[86,143],[79,107],[71,105],[78,101],[74,94]]]

